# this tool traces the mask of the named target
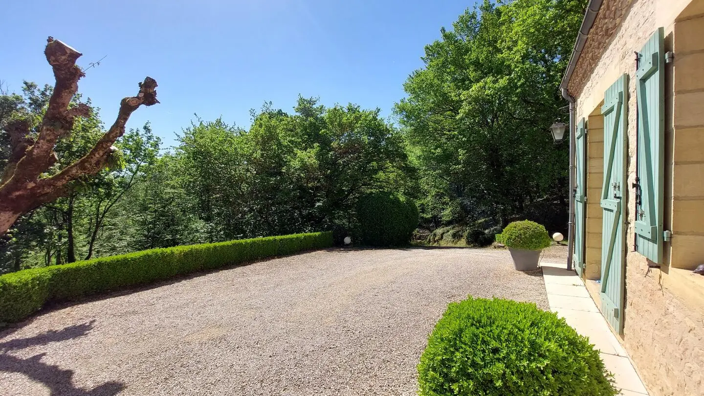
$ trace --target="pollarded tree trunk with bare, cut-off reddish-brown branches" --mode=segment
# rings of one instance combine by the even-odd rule
[[[156,100],[156,80],[147,77],[139,83],[136,97],[120,102],[115,123],[82,159],[71,163],[54,175],[42,174],[56,163],[54,145],[60,137],[68,136],[76,117],[89,116],[89,107],[80,104],[69,108],[71,98],[78,90],[78,80],[84,76],[76,65],[80,52],[63,42],[49,37],[46,61],[54,69],[54,92],[36,138],[30,137],[32,125],[27,120],[15,120],[5,127],[10,136],[12,152],[0,181],[0,235],[22,214],[37,206],[54,201],[69,193],[68,183],[85,175],[94,175],[106,166],[113,154],[113,144],[125,133],[125,123],[139,106],[151,106]]]

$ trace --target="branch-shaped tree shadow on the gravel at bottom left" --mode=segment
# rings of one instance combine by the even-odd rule
[[[40,382],[51,390],[49,395],[72,395],[72,396],[114,396],[125,389],[125,384],[115,381],[103,383],[91,390],[76,388],[73,385],[73,370],[61,369],[59,366],[46,364],[42,358],[46,353],[36,354],[33,357],[23,359],[8,354],[8,351],[24,349],[36,345],[46,345],[49,342],[58,342],[79,338],[92,330],[95,321],[89,321],[79,325],[68,326],[62,330],[49,330],[46,333],[35,335],[30,338],[21,338],[0,342],[0,371],[6,373],[19,373],[34,381]]]

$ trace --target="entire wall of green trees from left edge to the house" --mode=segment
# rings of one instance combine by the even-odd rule
[[[515,218],[559,230],[567,218],[567,144],[553,145],[548,126],[564,117],[557,87],[585,5],[484,1],[466,11],[425,48],[425,66],[406,81],[407,97],[395,107],[400,128],[379,109],[299,97],[291,112],[271,103],[251,111],[246,129],[196,117],[167,151],[149,123],[118,137],[74,92],[67,111],[80,109],[81,117],[44,148],[55,161],[37,180],[83,161],[106,133],[115,147],[55,199],[24,211],[0,240],[0,272],[318,230],[362,241],[370,227],[360,227],[360,198],[376,192],[409,207],[413,200],[422,227],[457,226],[453,235],[470,242],[493,240]],[[32,82],[20,93],[1,88],[0,171],[9,180],[25,152],[18,142],[53,128],[44,120],[55,92]],[[32,129],[18,134],[17,120]]]

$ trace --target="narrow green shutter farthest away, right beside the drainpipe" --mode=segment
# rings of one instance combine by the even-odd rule
[[[577,125],[574,179],[574,269],[584,271],[584,241],[586,232],[586,127],[584,118]]]

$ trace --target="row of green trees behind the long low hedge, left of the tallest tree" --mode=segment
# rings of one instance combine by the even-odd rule
[[[38,92],[27,83],[24,97],[0,101],[29,109]],[[46,104],[37,103],[41,113]],[[61,161],[80,157],[100,137],[94,114],[75,125],[76,140],[57,145]],[[313,230],[342,237],[357,230],[360,196],[413,188],[399,132],[378,110],[353,104],[326,108],[299,98],[292,114],[266,104],[249,130],[199,119],[179,141],[160,155],[149,124],[127,132],[113,167],[15,223],[1,245],[5,271]]]

